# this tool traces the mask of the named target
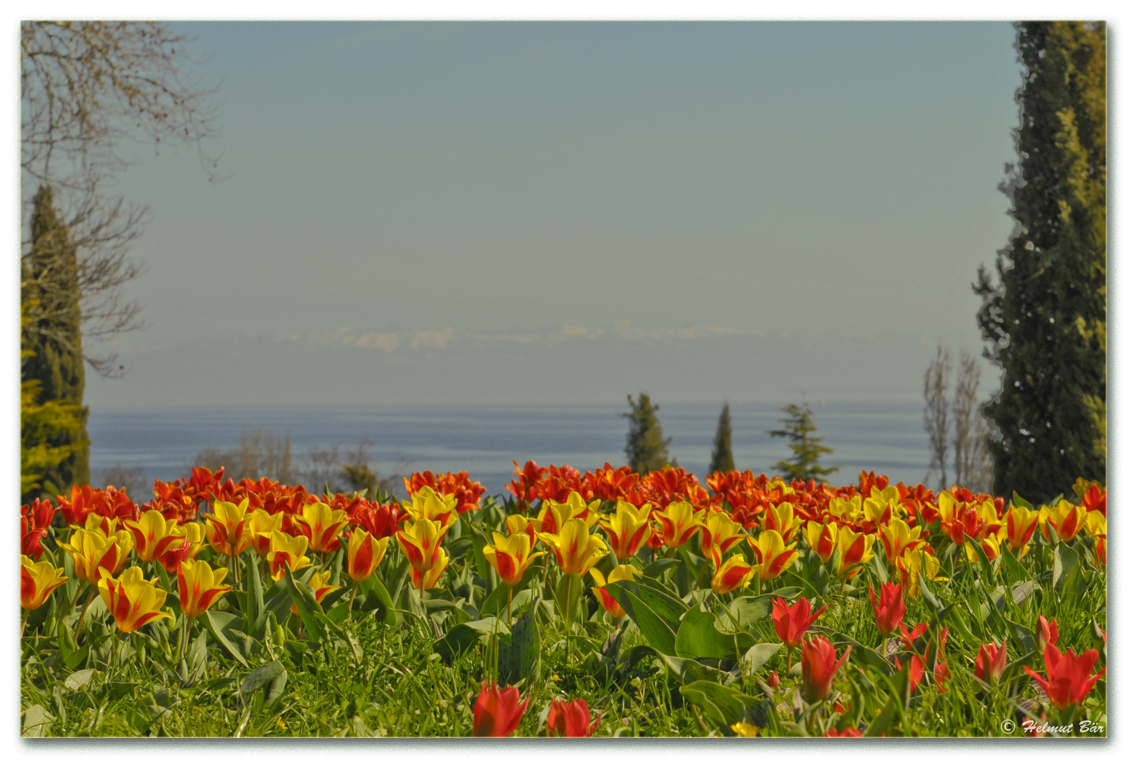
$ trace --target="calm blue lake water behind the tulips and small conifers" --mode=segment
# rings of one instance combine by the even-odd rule
[[[876,469],[893,482],[915,484],[928,471],[928,438],[922,402],[811,403],[823,444],[834,449],[823,465],[840,466],[835,485],[857,482],[858,471]],[[462,406],[394,408],[254,408],[163,412],[97,412],[91,409],[90,468],[100,484],[105,468],[141,466],[149,482],[174,479],[189,471],[205,447],[227,449],[243,431],[268,429],[292,434],[293,457],[302,462],[314,447],[341,450],[370,441],[381,475],[397,465],[406,471],[465,469],[490,494],[507,494],[513,459],[592,469],[625,464],[628,422],[618,415],[623,404],[557,406]],[[720,405],[662,403],[658,417],[677,462],[703,483],[716,435]],[[777,404],[733,404],[731,441],[736,466],[770,473],[789,457],[781,439]],[[134,494],[136,496],[136,494]]]

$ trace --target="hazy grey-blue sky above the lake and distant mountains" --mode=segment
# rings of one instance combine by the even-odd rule
[[[917,397],[1012,222],[1003,23],[196,23],[94,409]],[[990,388],[996,372],[987,369]]]

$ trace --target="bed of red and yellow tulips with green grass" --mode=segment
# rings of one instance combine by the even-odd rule
[[[24,506],[24,734],[1107,733],[1095,483],[514,465]]]

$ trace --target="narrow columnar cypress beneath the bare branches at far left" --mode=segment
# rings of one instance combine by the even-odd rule
[[[86,432],[89,408],[82,406],[86,367],[82,359],[82,310],[80,307],[78,257],[66,227],[59,220],[50,186],[42,185],[34,197],[32,252],[25,264],[24,288],[30,319],[28,358],[20,370],[21,381],[37,382],[35,402],[61,403],[72,408],[74,424],[59,426],[46,442],[70,448],[71,455],[47,466],[43,483],[62,491],[90,481],[90,449]]]

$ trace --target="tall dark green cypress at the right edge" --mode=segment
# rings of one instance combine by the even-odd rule
[[[1003,369],[984,407],[994,493],[1047,502],[1076,477],[1107,481],[1106,29],[1015,27],[1019,162],[1000,188],[1017,223],[997,283],[980,267],[974,291],[984,355]]]

